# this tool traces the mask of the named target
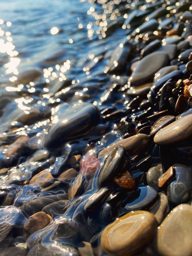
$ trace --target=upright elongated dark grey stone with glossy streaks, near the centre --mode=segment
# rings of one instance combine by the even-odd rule
[[[122,171],[125,160],[125,149],[122,145],[115,147],[107,156],[99,174],[101,186],[113,182],[115,176]]]

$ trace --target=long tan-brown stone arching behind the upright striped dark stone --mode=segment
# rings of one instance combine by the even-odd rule
[[[102,149],[102,151],[99,152],[98,157],[109,154],[109,152],[119,145],[122,145],[128,154],[137,154],[148,145],[149,141],[150,137],[146,134],[133,135]]]

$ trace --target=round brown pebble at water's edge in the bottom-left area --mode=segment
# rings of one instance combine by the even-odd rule
[[[45,228],[50,222],[49,216],[44,211],[39,211],[28,218],[24,224],[24,229],[30,234]]]

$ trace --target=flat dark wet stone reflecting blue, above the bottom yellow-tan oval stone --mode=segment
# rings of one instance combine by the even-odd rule
[[[156,196],[158,192],[149,186],[141,186],[138,187],[138,190],[132,193],[126,202],[128,202],[125,206],[125,209],[128,211],[139,210],[143,207],[149,205]]]

